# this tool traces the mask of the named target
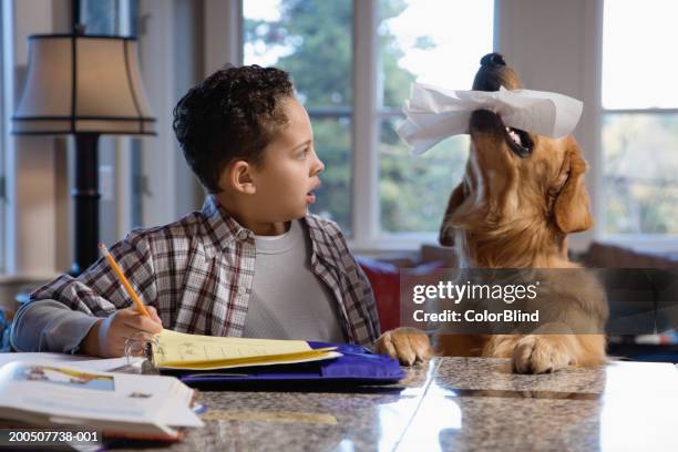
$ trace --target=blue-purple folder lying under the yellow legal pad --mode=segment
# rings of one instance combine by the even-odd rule
[[[357,345],[308,342],[314,348],[337,347],[339,358],[294,364],[255,366],[220,370],[161,369],[162,373],[178,377],[184,383],[201,389],[294,389],[302,384],[368,386],[397,383],[405,376],[393,358],[376,355]]]

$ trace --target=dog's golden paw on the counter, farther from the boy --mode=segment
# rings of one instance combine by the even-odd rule
[[[566,368],[571,361],[557,336],[525,336],[513,349],[513,370],[517,373],[551,373]]]

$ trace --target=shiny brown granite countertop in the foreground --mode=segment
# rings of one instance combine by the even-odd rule
[[[359,392],[202,392],[205,428],[173,451],[678,450],[678,369],[612,361],[518,376],[434,358]]]

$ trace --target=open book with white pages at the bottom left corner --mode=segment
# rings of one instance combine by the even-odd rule
[[[0,419],[76,425],[110,436],[178,440],[202,427],[194,390],[172,377],[111,373],[78,362],[11,361],[0,368]],[[7,422],[3,422],[7,423]]]

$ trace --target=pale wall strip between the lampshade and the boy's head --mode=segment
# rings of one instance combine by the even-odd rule
[[[171,223],[192,212],[203,192],[174,138],[172,110],[202,80],[203,2],[144,0],[140,2],[140,49],[148,101],[157,120],[157,136],[142,141],[145,227]]]

